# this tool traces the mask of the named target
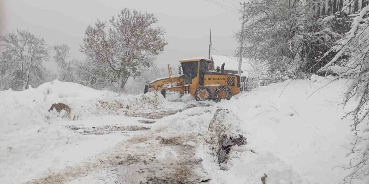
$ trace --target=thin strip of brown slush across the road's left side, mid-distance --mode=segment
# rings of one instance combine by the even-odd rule
[[[79,134],[83,135],[103,135],[111,133],[128,133],[129,131],[147,131],[150,127],[141,126],[123,126],[123,125],[107,125],[100,127],[76,127],[76,126],[66,126],[70,130],[73,130]]]

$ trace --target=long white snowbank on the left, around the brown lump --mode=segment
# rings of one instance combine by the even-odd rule
[[[163,102],[158,92],[145,95],[124,95],[99,91],[72,82],[58,80],[24,91],[0,91],[0,132],[34,124],[50,123],[63,114],[48,112],[53,103],[64,103],[78,118],[101,114],[121,114],[135,108],[145,109]]]

